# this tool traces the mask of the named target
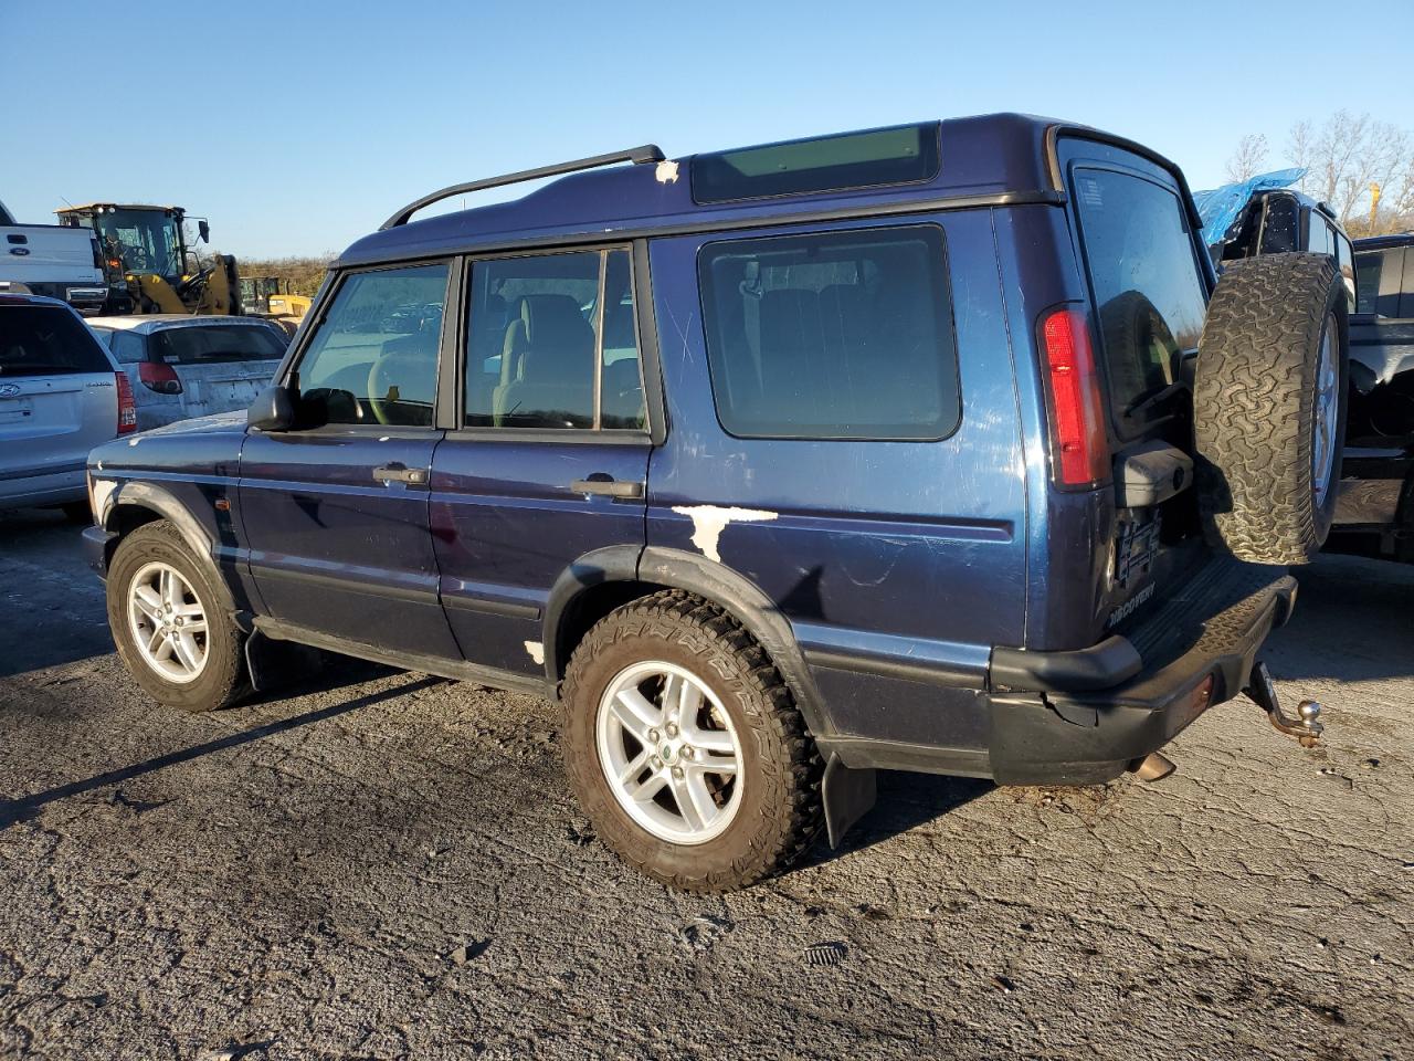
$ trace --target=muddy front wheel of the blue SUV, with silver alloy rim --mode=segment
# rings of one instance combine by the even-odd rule
[[[158,521],[133,530],[107,573],[107,622],[123,663],[170,707],[209,712],[246,690],[245,637],[215,574]]]

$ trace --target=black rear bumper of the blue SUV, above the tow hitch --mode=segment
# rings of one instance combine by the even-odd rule
[[[1123,641],[1140,668],[1097,688],[1093,668],[1056,688],[1068,668],[1036,668],[1029,689],[991,695],[990,760],[1001,784],[1097,784],[1168,744],[1208,707],[1247,685],[1267,634],[1291,615],[1297,581],[1285,569],[1217,560]],[[1102,645],[1109,642],[1102,642]],[[1073,654],[1031,654],[1073,655]],[[1114,654],[1123,669],[1127,654]],[[1021,676],[1004,671],[1008,678]],[[997,673],[994,671],[994,680]],[[1210,692],[1200,689],[1212,679]]]

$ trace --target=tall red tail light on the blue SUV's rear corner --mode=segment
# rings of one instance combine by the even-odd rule
[[[1055,310],[1041,323],[1051,399],[1051,474],[1062,487],[1110,478],[1104,399],[1090,330],[1080,310]]]

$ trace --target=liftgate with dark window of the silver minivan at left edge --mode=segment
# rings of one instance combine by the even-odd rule
[[[74,311],[0,304],[0,482],[82,471],[115,434],[113,365]]]

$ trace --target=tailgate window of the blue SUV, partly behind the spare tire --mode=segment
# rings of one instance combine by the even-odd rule
[[[1198,347],[1208,303],[1172,190],[1113,170],[1075,171],[1086,269],[1099,315],[1110,405],[1121,437],[1141,431]]]

